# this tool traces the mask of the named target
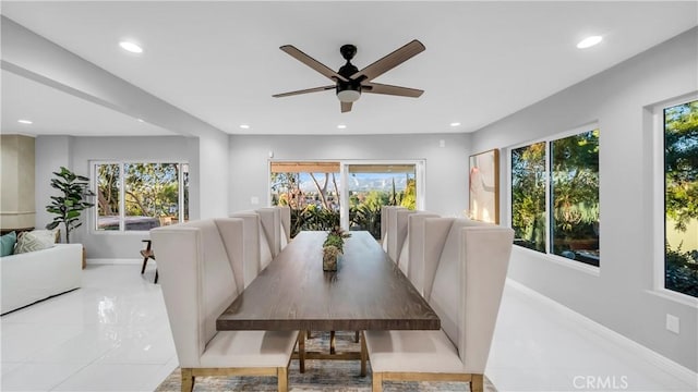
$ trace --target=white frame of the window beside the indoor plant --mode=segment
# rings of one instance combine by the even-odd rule
[[[98,173],[97,167],[100,164],[118,164],[119,166],[119,230],[99,230],[99,211],[97,206],[95,208],[91,208],[89,211],[89,232],[92,234],[106,234],[106,235],[143,235],[147,230],[125,230],[125,164],[163,164],[163,163],[174,163],[178,166],[186,164],[191,168],[191,164],[186,160],[180,159],[108,159],[108,160],[91,160],[89,161],[89,175],[91,175],[91,189],[98,194]],[[178,223],[184,222],[184,174],[182,170],[179,170],[178,177],[178,209],[179,209],[179,221]],[[191,189],[190,189],[191,191]]]

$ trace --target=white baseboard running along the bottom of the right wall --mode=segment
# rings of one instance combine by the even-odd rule
[[[647,360],[648,363],[652,364],[653,366],[666,371],[667,373],[672,375],[673,377],[679,379],[681,381],[689,384],[689,385],[696,385],[696,380],[698,380],[698,373],[690,370],[689,368],[675,363],[674,360],[639,344],[638,342],[628,339],[624,335],[622,335],[621,333],[613,331],[612,329],[604,327],[603,324],[581,315],[578,314],[574,310],[571,310],[570,308],[562,305],[558,302],[555,302],[554,299],[513,280],[507,278],[506,279],[506,284],[514,289],[517,290],[518,292],[520,292],[524,295],[529,296],[530,298],[534,299],[534,301],[539,301],[542,302],[543,304],[545,304],[546,306],[550,306],[553,311],[558,313],[559,315],[562,315],[564,318],[566,319],[570,319],[573,320],[576,324],[580,326],[581,328],[586,329],[587,331],[589,331],[590,333],[594,333],[598,336],[609,340],[612,343],[615,343],[616,345],[621,346],[623,350],[626,350],[627,352],[636,355],[639,358],[642,358],[645,360]]]

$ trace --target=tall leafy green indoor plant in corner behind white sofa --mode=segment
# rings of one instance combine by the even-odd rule
[[[51,204],[46,206],[48,212],[55,213],[53,221],[46,225],[46,229],[53,230],[59,224],[65,229],[65,242],[70,243],[70,232],[82,225],[80,216],[82,211],[94,206],[87,197],[95,196],[89,191],[89,179],[77,175],[64,167],[60,172],[53,172],[51,187],[58,189],[60,196],[51,196]]]

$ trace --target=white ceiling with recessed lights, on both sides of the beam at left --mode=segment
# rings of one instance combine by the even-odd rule
[[[696,1],[3,1],[1,12],[230,134],[472,132],[698,25]],[[592,34],[601,45],[575,47]],[[144,52],[121,50],[124,38]],[[340,113],[333,90],[272,97],[332,84],[281,45],[337,70],[353,44],[361,69],[414,38],[426,50],[375,82],[420,98],[365,94]],[[16,124],[27,117],[34,125]],[[15,130],[169,134],[3,71],[2,132]]]

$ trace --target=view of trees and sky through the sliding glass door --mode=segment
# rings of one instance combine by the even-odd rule
[[[349,230],[381,236],[381,206],[416,208],[414,164],[351,164],[341,184],[339,162],[272,162],[272,205],[291,208],[291,235],[340,224],[341,192],[348,192]]]

